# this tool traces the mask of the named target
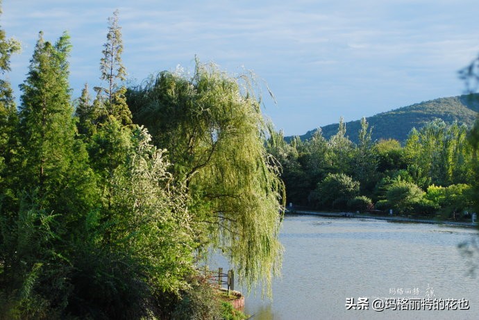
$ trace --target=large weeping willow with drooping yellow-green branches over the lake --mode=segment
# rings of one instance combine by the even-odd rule
[[[270,288],[280,270],[284,208],[278,167],[264,148],[266,126],[248,76],[233,78],[197,62],[192,78],[161,72],[127,92],[135,123],[168,151],[176,183],[207,239],[238,271],[240,283]]]

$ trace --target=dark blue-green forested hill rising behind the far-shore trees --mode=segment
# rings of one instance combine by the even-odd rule
[[[403,142],[413,127],[419,129],[435,118],[442,119],[447,124],[457,120],[460,124],[471,126],[478,111],[479,95],[469,94],[416,103],[412,106],[378,113],[378,115],[366,119],[369,128],[373,127],[373,140],[393,138]],[[323,137],[329,139],[337,133],[337,128],[338,124],[321,127]],[[360,128],[360,120],[346,122],[346,135],[351,141],[358,142]],[[308,140],[316,130],[310,130],[305,135],[301,135],[301,140]],[[286,137],[285,139],[289,141],[291,138]]]

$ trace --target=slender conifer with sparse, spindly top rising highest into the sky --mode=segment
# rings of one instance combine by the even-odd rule
[[[92,167],[100,177],[102,198],[108,208],[104,212],[107,215],[115,192],[113,176],[115,170],[126,161],[125,155],[131,148],[133,129],[131,112],[124,95],[126,88],[121,86],[121,81],[126,77],[126,69],[121,62],[123,42],[118,11],[108,19],[108,24],[107,42],[103,45],[103,58],[100,60],[101,79],[107,82],[107,87],[94,88],[96,129],[89,145]]]

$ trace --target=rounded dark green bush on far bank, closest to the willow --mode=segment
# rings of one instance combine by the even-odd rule
[[[328,174],[310,194],[314,208],[345,209],[359,194],[360,183],[345,174]]]

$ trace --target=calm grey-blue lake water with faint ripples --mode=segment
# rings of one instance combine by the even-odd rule
[[[246,296],[251,319],[479,319],[479,282],[457,245],[477,231],[373,219],[287,216],[273,301]],[[478,269],[479,272],[479,269]],[[407,291],[410,289],[411,291]],[[402,290],[402,294],[401,294]],[[346,310],[346,298],[465,298],[469,310]]]

